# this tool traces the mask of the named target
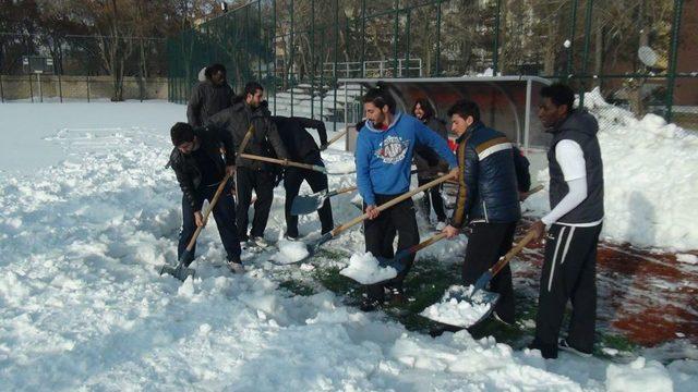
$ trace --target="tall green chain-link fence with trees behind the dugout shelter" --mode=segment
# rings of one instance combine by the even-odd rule
[[[213,62],[325,120],[339,77],[540,75],[698,128],[697,27],[698,0],[256,0],[168,40],[169,99]]]

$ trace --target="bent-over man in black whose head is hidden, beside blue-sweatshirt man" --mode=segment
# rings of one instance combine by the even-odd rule
[[[327,147],[327,131],[325,123],[318,120],[305,118],[287,118],[281,115],[272,117],[276,124],[279,136],[289,154],[289,158],[296,162],[315,164],[324,167],[320,150]],[[313,136],[305,128],[317,130],[322,147],[317,147]],[[291,205],[298,196],[303,180],[308,182],[313,192],[327,189],[327,174],[313,170],[289,167],[284,174],[284,187],[286,188],[286,237],[288,240],[298,238],[298,217],[291,215]],[[325,199],[323,206],[317,210],[322,233],[333,230],[332,206],[329,198]]]

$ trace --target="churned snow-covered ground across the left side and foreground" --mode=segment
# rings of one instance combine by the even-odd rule
[[[220,268],[213,228],[200,238],[194,280],[160,277],[158,266],[176,258],[181,222],[181,193],[165,169],[168,130],[184,110],[166,102],[0,105],[2,390],[693,391],[698,384],[695,360],[617,364],[566,353],[544,360],[466,331],[436,339],[409,332],[381,313],[345,306],[329,291],[294,296],[279,283],[348,260],[279,266],[262,255],[248,260],[246,274],[233,275]],[[324,157],[329,172],[351,167],[346,152]],[[671,173],[666,168],[657,181],[674,181]],[[330,175],[332,188],[353,183],[353,174]],[[356,217],[351,197],[333,198],[337,222]],[[277,188],[269,240],[284,231],[282,203]],[[316,216],[300,221],[302,234],[317,234]],[[418,259],[452,262],[465,244],[444,241]],[[326,246],[358,253],[362,235],[354,229]]]

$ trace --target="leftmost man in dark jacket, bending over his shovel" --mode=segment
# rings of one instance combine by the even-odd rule
[[[182,188],[182,231],[179,234],[178,258],[186,249],[197,226],[204,225],[201,212],[204,200],[213,199],[220,181],[226,174],[234,173],[234,150],[230,136],[218,128],[192,128],[186,123],[177,123],[170,130],[172,152],[169,164],[174,170],[179,186]],[[225,147],[225,159],[220,148]],[[240,242],[236,228],[236,205],[231,182],[226,184],[213,213],[218,226],[220,241],[226,249],[228,266],[233,272],[242,272],[240,262]],[[191,259],[184,260],[189,266],[194,259],[195,247]]]

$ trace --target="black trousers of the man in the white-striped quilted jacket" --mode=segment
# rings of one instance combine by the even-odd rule
[[[466,259],[462,264],[462,282],[473,284],[490,267],[512,249],[516,222],[471,224],[472,233],[468,236]],[[506,265],[490,281],[490,291],[500,294],[494,311],[503,321],[514,322],[514,287],[512,268]]]

